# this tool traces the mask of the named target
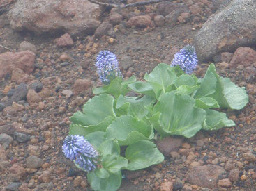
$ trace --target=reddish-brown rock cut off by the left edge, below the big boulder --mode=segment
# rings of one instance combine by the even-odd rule
[[[0,78],[11,74],[13,69],[19,68],[27,74],[33,72],[33,63],[35,61],[35,53],[32,51],[20,51],[17,53],[5,52],[0,54]]]

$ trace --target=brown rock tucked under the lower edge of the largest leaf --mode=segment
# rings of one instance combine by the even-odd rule
[[[156,146],[165,156],[169,156],[171,152],[178,151],[183,142],[182,138],[167,137],[163,140],[157,140]]]

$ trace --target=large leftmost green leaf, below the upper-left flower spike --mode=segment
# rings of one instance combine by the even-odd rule
[[[116,118],[113,103],[114,98],[109,94],[95,96],[84,104],[83,113],[74,113],[74,115],[70,117],[70,121],[73,122],[73,124],[90,126],[99,124],[109,116]]]

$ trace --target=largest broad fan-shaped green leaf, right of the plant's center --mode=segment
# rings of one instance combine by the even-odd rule
[[[206,112],[195,107],[195,99],[186,94],[170,92],[159,98],[149,120],[154,128],[163,128],[159,132],[162,136],[183,135],[191,138],[202,128],[205,118]]]

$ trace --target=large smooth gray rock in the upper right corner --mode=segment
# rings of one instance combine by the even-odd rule
[[[256,42],[256,0],[226,0],[195,35],[197,56],[213,60],[224,51],[251,47]]]

